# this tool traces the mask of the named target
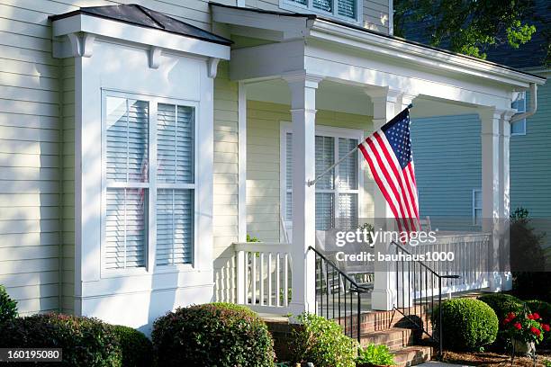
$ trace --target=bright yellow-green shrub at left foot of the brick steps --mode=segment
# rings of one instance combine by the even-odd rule
[[[313,314],[298,317],[301,327],[293,331],[294,362],[316,367],[354,367],[357,341],[345,336],[340,326]]]

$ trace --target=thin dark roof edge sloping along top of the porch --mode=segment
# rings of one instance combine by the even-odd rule
[[[416,45],[416,46],[420,46],[424,49],[433,49],[435,51],[439,51],[439,52],[445,52],[447,53],[448,55],[455,55],[455,56],[459,56],[461,58],[470,58],[470,59],[473,59],[475,61],[478,61],[478,62],[483,62],[484,64],[488,64],[488,65],[492,65],[492,66],[495,66],[495,67],[502,67],[502,68],[505,68],[505,69],[508,69],[508,70],[512,70],[512,71],[516,71],[516,72],[519,72],[521,74],[525,74],[525,75],[528,75],[528,76],[536,76],[536,77],[539,77],[541,78],[541,76],[537,76],[536,74],[530,74],[526,71],[522,71],[522,70],[519,70],[517,67],[511,67],[511,66],[508,66],[508,65],[503,65],[501,63],[497,63],[497,62],[493,62],[493,61],[488,61],[488,60],[484,60],[482,58],[474,58],[472,56],[467,56],[467,55],[464,55],[464,54],[460,54],[460,53],[456,53],[456,52],[453,52],[453,51],[450,51],[449,49],[442,49],[442,48],[438,48],[438,47],[434,47],[434,46],[429,46],[427,45],[426,43],[423,43],[421,40],[415,40],[414,38],[408,38],[408,39],[403,39],[402,37],[396,37],[396,36],[393,36],[393,35],[390,35],[390,34],[386,34],[386,33],[383,33],[381,31],[373,31],[373,30],[370,30],[368,28],[364,28],[364,27],[361,27],[359,25],[355,25],[355,24],[349,24],[348,22],[341,22],[341,21],[337,21],[335,19],[331,19],[331,18],[326,18],[326,17],[322,17],[322,16],[319,16],[319,15],[316,15],[316,14],[311,14],[311,13],[284,13],[284,12],[274,12],[274,11],[268,11],[268,10],[263,10],[263,9],[257,9],[257,8],[244,8],[244,7],[240,7],[240,6],[233,6],[233,5],[226,5],[226,4],[219,4],[219,3],[216,3],[216,2],[210,2],[209,3],[210,5],[215,5],[215,6],[221,6],[221,7],[225,7],[225,8],[230,8],[230,9],[238,9],[240,11],[247,11],[247,12],[253,12],[253,13],[262,13],[262,14],[275,14],[275,15],[284,15],[284,16],[294,16],[294,17],[303,17],[303,18],[308,18],[308,19],[312,19],[312,20],[315,20],[315,19],[320,19],[324,22],[331,22],[331,23],[334,23],[334,24],[338,24],[338,25],[341,25],[343,27],[347,27],[347,28],[350,28],[350,29],[354,29],[354,30],[357,30],[357,31],[363,31],[365,33],[371,33],[371,34],[375,34],[377,36],[381,36],[381,37],[384,37],[384,38],[387,38],[387,39],[390,39],[390,40],[400,40],[402,42],[405,42],[405,43],[409,43],[411,45]]]

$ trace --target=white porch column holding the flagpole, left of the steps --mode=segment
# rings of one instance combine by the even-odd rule
[[[321,77],[304,72],[284,76],[291,90],[293,122],[293,250],[291,312],[316,310],[315,260],[309,246],[315,246],[315,187],[308,186],[315,171],[316,89]]]

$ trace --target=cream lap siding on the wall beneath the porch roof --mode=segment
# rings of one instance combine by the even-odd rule
[[[291,121],[289,106],[247,102],[247,232],[261,241],[279,241],[280,228],[280,122]],[[319,111],[316,124],[370,132],[371,117]],[[364,170],[360,205],[373,214],[373,181]]]

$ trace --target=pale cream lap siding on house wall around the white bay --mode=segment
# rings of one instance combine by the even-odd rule
[[[235,4],[234,0],[222,2]],[[74,67],[70,59],[52,57],[48,16],[79,6],[121,3],[0,0],[0,284],[19,301],[23,314],[73,309]],[[126,3],[142,4],[206,30],[212,28],[208,1]],[[218,148],[234,144],[220,137],[226,121],[237,121],[234,106],[225,103],[215,103]],[[224,154],[216,153],[220,159],[226,159],[221,157]],[[228,206],[237,216],[231,202],[236,199],[217,194],[221,192],[218,187],[225,184],[221,180],[232,180],[233,174],[224,171],[227,169],[231,171],[215,165],[219,186],[214,201],[217,209]],[[232,229],[231,219],[215,218],[215,223],[215,233],[229,234],[228,241],[217,239],[216,243],[230,243],[237,236],[232,237],[237,230]]]

